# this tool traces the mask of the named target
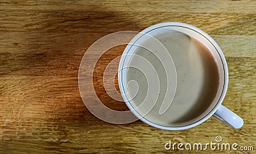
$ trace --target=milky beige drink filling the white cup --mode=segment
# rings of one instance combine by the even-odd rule
[[[179,32],[164,33],[154,37],[163,43],[168,51],[163,49],[149,51],[143,48],[154,46],[157,43],[148,39],[141,43],[143,47],[138,47],[135,54],[147,59],[154,66],[159,77],[160,89],[157,91],[155,90],[157,88],[148,87],[148,77],[142,73],[147,72],[147,70],[129,68],[127,70],[127,81],[134,80],[139,86],[137,95],[130,101],[131,105],[134,108],[142,103],[146,106],[153,106],[150,112],[148,112],[147,107],[136,110],[153,123],[164,126],[188,124],[205,112],[214,100],[219,85],[218,68],[211,52],[195,38]],[[175,72],[165,72],[161,63],[165,59],[157,58],[161,57],[161,54],[166,54],[164,52],[169,52],[172,56],[177,72],[177,89],[172,102],[172,97],[169,98],[166,95],[166,88],[167,86],[175,86],[175,79],[170,77],[167,79],[166,76]],[[141,61],[132,58],[131,65],[141,65]],[[147,73],[147,76],[152,76],[150,73],[154,72]],[[157,79],[156,83],[158,83]],[[129,91],[136,93],[136,89],[132,87],[129,87]],[[156,98],[156,95],[147,95],[148,91],[158,93],[156,104],[154,104],[154,101],[148,101]],[[165,101],[168,102],[164,102],[165,95],[167,97]],[[147,102],[143,102],[145,100]],[[171,105],[164,114],[160,115],[159,109],[163,103],[171,103]]]

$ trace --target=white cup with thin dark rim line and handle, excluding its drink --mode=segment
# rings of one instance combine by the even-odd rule
[[[129,92],[128,86],[127,86],[127,69],[130,66],[130,62],[132,59],[132,56],[136,52],[136,47],[134,45],[138,45],[141,42],[145,42],[145,39],[148,39],[147,37],[143,37],[145,35],[151,34],[158,34],[158,33],[164,33],[163,27],[166,27],[167,29],[171,29],[173,31],[179,31],[180,33],[184,33],[185,35],[192,36],[196,40],[199,40],[200,42],[204,43],[204,45],[211,51],[211,54],[215,58],[216,65],[218,67],[218,73],[219,73],[219,86],[217,94],[212,101],[211,105],[197,118],[193,119],[192,121],[189,121],[189,123],[186,123],[184,125],[159,125],[154,120],[148,120],[145,118],[145,116],[141,115],[140,112],[138,112],[138,108],[134,107],[133,100],[127,96],[127,93]],[[173,64],[173,61],[170,60],[170,63],[172,63],[172,66],[174,68],[168,68],[169,71],[175,72],[175,65]],[[141,62],[141,65],[143,65],[143,62]],[[211,36],[207,35],[204,31],[199,29],[198,27],[191,26],[189,24],[184,24],[181,22],[164,22],[160,24],[156,24],[154,26],[150,26],[138,35],[136,35],[129,45],[124,50],[124,53],[122,54],[122,58],[120,60],[119,64],[119,70],[118,72],[118,84],[120,87],[120,91],[122,93],[122,96],[124,98],[125,104],[129,109],[132,111],[132,113],[141,121],[144,121],[148,125],[151,125],[156,128],[161,128],[164,130],[184,130],[191,127],[195,127],[196,125],[199,125],[200,123],[203,123],[205,120],[209,119],[212,115],[224,123],[227,123],[228,125],[234,127],[234,128],[241,128],[243,126],[243,119],[237,116],[234,112],[230,111],[221,103],[223,102],[223,99],[225,97],[225,94],[227,92],[228,87],[228,67],[227,62],[225,60],[225,56],[223,52],[220,49],[220,46],[211,38]],[[176,73],[176,72],[175,72]],[[175,78],[175,77],[174,77]],[[177,83],[176,83],[177,84]],[[151,84],[152,85],[152,84]],[[155,88],[150,87],[150,83],[148,84],[148,89]],[[175,95],[175,87],[171,87],[170,94]],[[152,94],[154,95],[154,94]],[[132,105],[133,104],[133,105]],[[167,105],[168,107],[172,107],[172,105]],[[145,102],[144,107],[147,107],[147,102]],[[149,111],[150,112],[150,111]]]

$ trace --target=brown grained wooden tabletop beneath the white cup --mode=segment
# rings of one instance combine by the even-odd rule
[[[255,153],[255,12],[256,1],[1,0],[0,153]],[[114,125],[86,109],[77,83],[86,49],[109,33],[168,21],[203,29],[223,49],[229,69],[223,105],[244,119],[243,128],[216,118],[182,131],[141,121]],[[100,100],[118,111],[127,107],[106,95],[102,74],[124,47],[108,50],[93,74]],[[217,135],[254,151],[164,149],[170,140],[205,143]]]

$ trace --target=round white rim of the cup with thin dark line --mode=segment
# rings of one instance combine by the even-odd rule
[[[138,113],[138,111],[136,111],[136,109],[134,109],[134,107],[132,107],[131,103],[129,102],[129,99],[125,95],[124,87],[126,87],[127,85],[122,82],[123,81],[122,78],[124,76],[123,68],[124,68],[124,61],[125,61],[126,55],[128,54],[132,45],[134,45],[134,43],[136,43],[136,41],[139,40],[141,38],[141,36],[147,34],[150,31],[153,31],[154,29],[158,29],[161,27],[184,27],[184,28],[191,29],[191,30],[195,31],[196,33],[199,33],[200,35],[204,36],[218,52],[218,55],[220,56],[220,59],[221,59],[222,65],[223,65],[224,82],[223,82],[223,88],[222,88],[221,95],[220,95],[218,102],[212,102],[211,104],[214,103],[215,105],[211,109],[211,111],[207,112],[203,118],[193,121],[192,123],[189,123],[188,125],[164,126],[164,125],[159,125],[157,123],[154,123],[153,121],[150,121],[150,120],[144,118],[143,116],[141,116]],[[142,33],[142,35],[141,35],[141,33]],[[130,44],[131,44],[131,46],[129,46]],[[155,24],[153,26],[147,27],[146,29],[143,29],[143,31],[141,31],[140,33],[138,33],[138,35],[136,35],[136,36],[134,36],[134,38],[132,38],[131,42],[129,42],[129,45],[127,45],[127,47],[125,48],[125,50],[122,54],[122,57],[120,59],[119,66],[118,66],[118,70],[120,70],[120,71],[118,71],[118,84],[119,84],[120,92],[122,93],[122,97],[124,98],[125,104],[127,105],[127,107],[129,107],[131,112],[141,121],[147,123],[148,125],[151,125],[152,127],[161,128],[164,130],[184,130],[184,129],[188,129],[188,128],[200,125],[200,123],[203,123],[204,121],[209,119],[214,114],[214,112],[217,111],[218,107],[220,107],[220,105],[222,104],[223,99],[227,93],[227,87],[228,87],[227,61],[226,61],[225,56],[224,56],[222,50],[220,49],[220,46],[218,45],[218,43],[216,43],[214,41],[214,39],[211,36],[209,36],[207,33],[202,31],[202,29],[199,29],[198,27],[192,26],[190,24],[182,23],[182,22],[163,22],[163,23],[159,23],[159,24]],[[218,91],[220,91],[220,89],[218,89]]]

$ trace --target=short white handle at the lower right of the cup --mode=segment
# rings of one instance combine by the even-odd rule
[[[241,117],[237,116],[237,114],[230,111],[229,109],[227,109],[227,107],[223,105],[220,105],[220,107],[213,114],[213,116],[236,129],[241,128],[244,124],[244,121]]]

